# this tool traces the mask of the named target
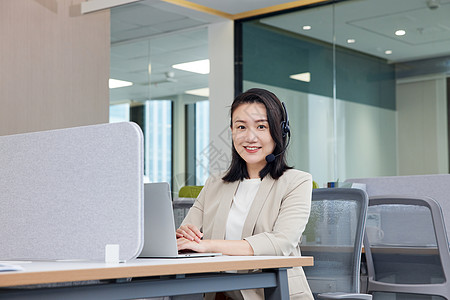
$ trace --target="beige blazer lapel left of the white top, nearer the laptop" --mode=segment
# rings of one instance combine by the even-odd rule
[[[225,229],[228,219],[228,213],[230,212],[231,203],[233,197],[236,194],[239,181],[235,181],[229,184],[225,184],[224,188],[220,190],[220,203],[216,213],[216,219],[214,220],[213,230],[211,232],[212,240],[225,239]]]

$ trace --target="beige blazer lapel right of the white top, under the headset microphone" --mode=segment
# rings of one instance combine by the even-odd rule
[[[242,229],[242,238],[253,235],[256,220],[263,208],[264,203],[267,201],[269,192],[272,189],[275,180],[267,175],[263,178],[258,191],[256,192],[255,199],[250,207],[247,218],[245,219],[244,228]]]

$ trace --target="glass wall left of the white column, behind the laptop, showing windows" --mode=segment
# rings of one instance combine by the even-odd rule
[[[189,169],[186,128],[196,132],[195,148],[204,149],[209,140],[207,26],[152,3],[116,7],[111,9],[110,54],[110,77],[122,84],[110,82],[110,122],[141,127],[145,180],[169,182],[177,192],[194,172],[192,184],[204,184],[208,163],[203,153],[194,152],[191,159],[202,163]],[[197,112],[188,124],[185,109],[191,104]]]

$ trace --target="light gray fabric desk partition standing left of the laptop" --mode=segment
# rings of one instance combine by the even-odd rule
[[[113,123],[0,137],[0,260],[119,259],[143,245],[143,136]]]

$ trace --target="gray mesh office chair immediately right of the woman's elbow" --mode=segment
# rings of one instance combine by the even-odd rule
[[[314,257],[314,266],[303,269],[315,299],[372,299],[359,293],[367,205],[360,189],[313,190],[300,248],[302,255]]]

